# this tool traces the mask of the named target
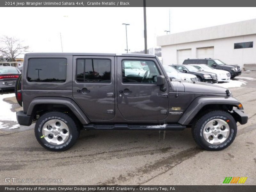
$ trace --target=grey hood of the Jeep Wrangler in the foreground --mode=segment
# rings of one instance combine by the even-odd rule
[[[220,93],[226,94],[226,88],[220,87],[218,85],[207,84],[202,82],[181,82],[185,87],[185,92],[195,92],[195,93]]]

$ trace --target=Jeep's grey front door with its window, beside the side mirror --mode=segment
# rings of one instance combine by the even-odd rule
[[[163,75],[155,58],[117,58],[117,107],[127,120],[163,120],[168,114],[168,83],[165,92],[156,85]]]

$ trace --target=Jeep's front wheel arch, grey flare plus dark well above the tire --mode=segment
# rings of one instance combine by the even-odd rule
[[[197,97],[185,110],[178,123],[190,125],[203,114],[212,110],[232,111],[233,107],[238,109],[240,102],[233,97]]]

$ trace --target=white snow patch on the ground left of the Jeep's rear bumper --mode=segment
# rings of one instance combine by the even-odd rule
[[[5,98],[9,97],[15,97],[15,93],[0,95],[0,123],[1,121],[17,122],[16,113],[11,111],[12,105],[3,101]]]

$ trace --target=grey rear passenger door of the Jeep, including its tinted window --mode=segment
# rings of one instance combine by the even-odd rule
[[[74,56],[73,97],[93,120],[115,116],[114,57]]]

